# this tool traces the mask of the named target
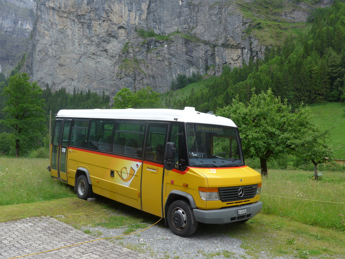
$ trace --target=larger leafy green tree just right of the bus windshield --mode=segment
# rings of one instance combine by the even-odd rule
[[[309,108],[301,105],[295,112],[280,97],[267,93],[255,94],[248,104],[233,99],[231,105],[217,110],[220,116],[228,117],[237,124],[243,140],[243,150],[249,158],[260,159],[261,174],[267,175],[267,160],[271,157],[296,150],[296,143],[312,128]]]

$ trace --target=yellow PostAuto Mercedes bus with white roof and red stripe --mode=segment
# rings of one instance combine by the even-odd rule
[[[261,176],[244,164],[237,126],[193,107],[61,110],[48,169],[79,198],[152,213],[182,237],[198,222],[246,222],[262,209]]]

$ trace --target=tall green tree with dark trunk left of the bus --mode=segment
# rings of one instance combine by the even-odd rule
[[[5,118],[0,122],[14,130],[16,157],[21,146],[32,147],[46,133],[44,99],[37,82],[32,84],[28,74],[15,74],[9,78],[2,95],[7,98],[2,112]]]

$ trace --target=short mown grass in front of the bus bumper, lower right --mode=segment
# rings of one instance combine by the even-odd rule
[[[259,258],[344,258],[345,234],[299,223],[289,218],[259,213],[245,224],[200,224],[204,234],[220,233],[242,241],[249,257]],[[309,252],[309,255],[303,251]],[[200,251],[200,253],[206,252]],[[224,255],[225,256],[225,255]],[[305,256],[305,257],[301,257]],[[312,257],[313,256],[313,257]],[[216,257],[215,257],[216,258]],[[228,258],[232,258],[228,255]]]

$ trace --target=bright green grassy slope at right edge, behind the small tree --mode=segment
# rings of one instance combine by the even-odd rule
[[[323,129],[332,128],[328,145],[336,159],[345,159],[345,103],[312,104],[314,122]]]

